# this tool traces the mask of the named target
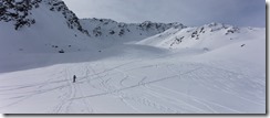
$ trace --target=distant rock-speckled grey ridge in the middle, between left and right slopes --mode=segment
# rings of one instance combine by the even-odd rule
[[[87,29],[93,37],[102,39],[112,36],[115,39],[134,37],[142,40],[162,33],[170,28],[185,29],[181,23],[155,23],[145,21],[143,23],[123,23],[111,19],[82,19],[80,20],[84,29]],[[136,37],[136,39],[135,39]]]

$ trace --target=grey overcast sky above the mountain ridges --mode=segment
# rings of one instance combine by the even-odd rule
[[[79,18],[266,26],[266,0],[63,0]]]

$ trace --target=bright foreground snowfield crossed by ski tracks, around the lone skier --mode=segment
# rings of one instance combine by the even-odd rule
[[[246,44],[246,51],[236,43],[206,55],[143,45],[66,53],[50,62],[76,62],[1,74],[0,111],[266,114],[266,58],[257,52],[264,51],[264,41]]]

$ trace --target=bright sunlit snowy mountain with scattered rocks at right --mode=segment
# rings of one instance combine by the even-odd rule
[[[137,44],[165,49],[191,47],[210,51],[252,39],[266,39],[266,29],[210,23],[198,28],[169,29],[160,34],[139,41]]]

